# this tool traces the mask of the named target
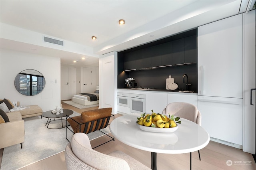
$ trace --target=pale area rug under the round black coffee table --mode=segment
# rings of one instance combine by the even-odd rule
[[[74,112],[70,117],[78,116],[79,113]],[[66,118],[62,118],[66,119]],[[68,140],[72,137],[72,132],[66,128],[49,129],[46,128],[47,119],[40,116],[24,118],[25,139],[23,148],[20,144],[4,148],[1,170],[16,170],[24,166],[28,166],[52,155],[63,152],[68,144]],[[66,121],[63,121],[66,125]],[[61,121],[53,121],[49,127],[62,126]],[[103,132],[109,133],[109,128],[102,129]],[[102,132],[92,132],[88,136],[90,140],[104,135]]]

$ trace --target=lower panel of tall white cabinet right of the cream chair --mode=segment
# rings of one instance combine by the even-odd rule
[[[202,127],[212,139],[242,146],[243,99],[198,96],[198,110]]]

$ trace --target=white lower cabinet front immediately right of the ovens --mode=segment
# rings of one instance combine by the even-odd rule
[[[162,113],[167,104],[167,93],[146,93],[146,113]]]

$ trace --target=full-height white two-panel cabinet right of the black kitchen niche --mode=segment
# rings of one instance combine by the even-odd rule
[[[242,148],[242,14],[198,27],[198,109],[212,140]]]

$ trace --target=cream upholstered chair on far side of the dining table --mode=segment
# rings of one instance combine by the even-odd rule
[[[175,115],[192,121],[201,126],[202,116],[195,105],[185,102],[169,103],[162,111],[162,114]],[[198,150],[199,160],[201,160],[200,152]],[[191,152],[190,152],[190,170],[191,170]]]

